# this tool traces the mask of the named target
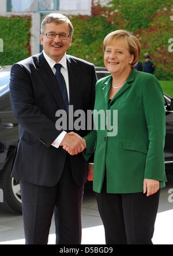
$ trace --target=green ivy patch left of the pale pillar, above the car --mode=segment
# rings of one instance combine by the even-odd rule
[[[30,28],[31,17],[29,16],[0,16],[0,38],[3,40],[0,66],[12,65],[31,55]]]

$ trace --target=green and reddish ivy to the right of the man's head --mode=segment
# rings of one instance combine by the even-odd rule
[[[168,39],[173,38],[173,0],[112,0],[107,7],[92,6],[92,16],[71,16],[74,25],[69,54],[103,64],[103,39],[109,32],[126,29],[141,43],[140,61],[144,53],[155,64],[159,80],[173,80],[173,53],[168,51]]]

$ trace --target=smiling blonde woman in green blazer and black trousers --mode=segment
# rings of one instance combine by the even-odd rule
[[[84,156],[95,153],[93,190],[106,243],[152,244],[167,181],[163,91],[155,76],[134,69],[141,51],[135,36],[118,30],[103,44],[111,75],[96,83],[95,129],[82,139]]]

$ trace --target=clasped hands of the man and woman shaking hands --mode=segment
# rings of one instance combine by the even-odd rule
[[[86,149],[86,142],[75,132],[69,132],[63,138],[60,146],[70,155],[77,155]]]

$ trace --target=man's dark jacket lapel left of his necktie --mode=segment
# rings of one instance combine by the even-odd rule
[[[46,59],[44,58],[43,53],[39,55],[37,59],[37,72],[40,76],[42,76],[42,79],[47,84],[48,89],[51,91],[52,97],[57,102],[57,105],[59,106],[59,109],[65,109],[65,103],[62,98],[61,90],[58,86],[58,81],[52,72],[50,66],[48,65]]]

